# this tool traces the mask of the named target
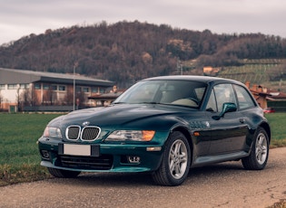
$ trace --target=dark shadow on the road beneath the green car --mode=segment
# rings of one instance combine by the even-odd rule
[[[226,162],[215,165],[207,165],[190,169],[189,175],[184,184],[190,184],[194,181],[208,180],[212,177],[221,177],[222,175],[238,174],[245,171],[240,162]],[[53,178],[51,183],[64,183],[84,186],[150,186],[153,183],[150,173],[82,173],[75,178]]]

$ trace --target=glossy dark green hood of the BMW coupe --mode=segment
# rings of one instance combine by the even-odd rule
[[[179,110],[180,109],[180,110]],[[56,118],[53,123],[55,126],[67,127],[70,125],[83,126],[88,123],[89,126],[112,127],[119,126],[151,126],[159,120],[176,119],[183,111],[193,111],[194,109],[164,106],[158,104],[117,104],[105,108],[93,108],[75,110],[61,118]],[[170,115],[173,115],[172,118]],[[60,124],[58,124],[60,122]],[[54,126],[54,125],[53,125]]]

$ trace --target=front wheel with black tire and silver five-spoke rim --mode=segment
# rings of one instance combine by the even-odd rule
[[[184,182],[191,164],[191,148],[186,137],[174,131],[166,141],[160,167],[153,172],[156,184],[174,186]]]

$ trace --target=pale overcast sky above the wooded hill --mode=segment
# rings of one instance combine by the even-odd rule
[[[0,0],[0,45],[31,33],[106,21],[286,38],[285,0]]]

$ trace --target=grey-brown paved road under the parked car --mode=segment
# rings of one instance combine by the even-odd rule
[[[146,174],[84,174],[0,187],[0,207],[267,207],[286,199],[286,147],[270,151],[262,171],[241,162],[195,168],[181,186]]]

